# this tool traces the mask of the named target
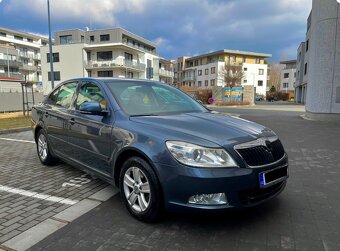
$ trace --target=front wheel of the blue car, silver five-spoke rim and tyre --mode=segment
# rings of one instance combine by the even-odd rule
[[[141,221],[155,222],[162,214],[162,193],[155,172],[142,158],[124,162],[119,178],[122,200],[131,215]]]

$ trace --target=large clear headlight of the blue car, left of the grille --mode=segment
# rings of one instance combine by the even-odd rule
[[[170,153],[180,163],[195,167],[237,166],[233,158],[222,148],[207,148],[181,141],[167,141]]]

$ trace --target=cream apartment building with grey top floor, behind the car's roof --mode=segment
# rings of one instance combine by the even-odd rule
[[[116,77],[172,83],[171,62],[156,45],[122,28],[63,30],[54,33],[55,85],[77,77]],[[51,90],[49,49],[42,48],[44,92]]]

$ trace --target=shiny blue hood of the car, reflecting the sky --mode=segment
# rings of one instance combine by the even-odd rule
[[[270,129],[241,118],[215,112],[185,113],[166,116],[131,117],[131,121],[157,128],[189,134],[220,146],[275,135]],[[176,134],[176,135],[177,135]],[[171,140],[171,134],[167,135]],[[185,140],[185,139],[182,139]]]

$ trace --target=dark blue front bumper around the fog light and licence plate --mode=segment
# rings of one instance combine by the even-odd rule
[[[156,163],[168,211],[223,210],[251,207],[277,196],[286,186],[288,158],[285,155],[273,165],[260,168],[193,168],[177,164]],[[278,182],[260,187],[259,174],[272,169],[287,168],[287,176]],[[200,205],[188,203],[197,194],[225,193],[228,203]]]

